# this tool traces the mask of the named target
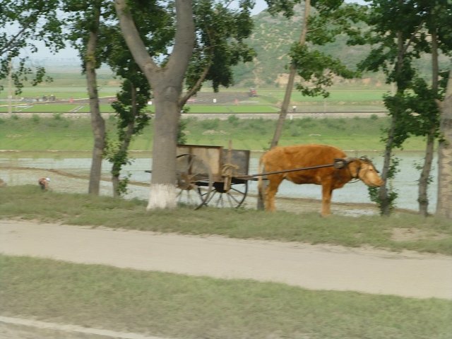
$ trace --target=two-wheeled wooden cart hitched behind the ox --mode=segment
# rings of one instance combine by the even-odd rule
[[[238,208],[248,193],[249,150],[222,146],[177,146],[177,201],[202,206]],[[245,178],[244,178],[245,177]]]

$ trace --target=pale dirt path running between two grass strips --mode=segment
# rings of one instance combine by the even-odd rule
[[[452,257],[0,220],[0,253],[312,290],[452,299]]]

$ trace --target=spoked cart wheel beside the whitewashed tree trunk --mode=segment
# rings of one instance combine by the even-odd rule
[[[210,167],[192,154],[178,155],[176,159],[177,203],[197,210],[212,191],[213,181]]]

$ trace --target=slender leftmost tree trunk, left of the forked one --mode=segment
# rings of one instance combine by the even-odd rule
[[[96,78],[96,46],[97,29],[99,27],[100,11],[95,16],[96,24],[94,30],[90,31],[85,55],[86,79],[88,83],[88,94],[90,96],[91,127],[93,129],[94,147],[93,161],[91,162],[90,182],[88,193],[99,195],[100,177],[102,171],[102,155],[105,148],[105,121],[100,115],[99,94],[97,93]]]

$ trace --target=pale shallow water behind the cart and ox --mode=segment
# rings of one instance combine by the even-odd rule
[[[258,157],[261,153],[251,155],[249,173],[258,173]],[[374,161],[377,169],[381,169],[383,157],[381,153],[348,153],[350,157],[367,155]],[[124,167],[124,175],[130,175],[133,184],[129,185],[129,193],[126,198],[148,199],[150,173],[145,172],[152,167],[150,153],[133,153],[131,165]],[[398,192],[396,205],[398,208],[417,210],[417,180],[420,172],[415,168],[415,163],[422,163],[421,152],[396,153],[400,159],[400,172],[391,182],[391,186]],[[86,193],[88,191],[88,176],[90,172],[90,153],[0,153],[0,179],[8,185],[37,184],[40,177],[50,177],[50,186],[55,191],[73,193]],[[109,170],[111,165],[105,161],[102,165],[101,194],[112,195],[112,184],[109,182]],[[436,159],[432,170],[432,184],[429,186],[429,211],[436,208],[437,190]],[[0,191],[1,192],[1,191]],[[256,182],[250,182],[249,195],[257,193]],[[296,185],[291,182],[283,182],[278,191],[278,196],[289,198],[321,198],[321,186],[304,184]],[[246,198],[248,201],[248,198]],[[333,202],[343,203],[371,203],[367,186],[362,182],[346,184],[343,189],[333,191]]]

